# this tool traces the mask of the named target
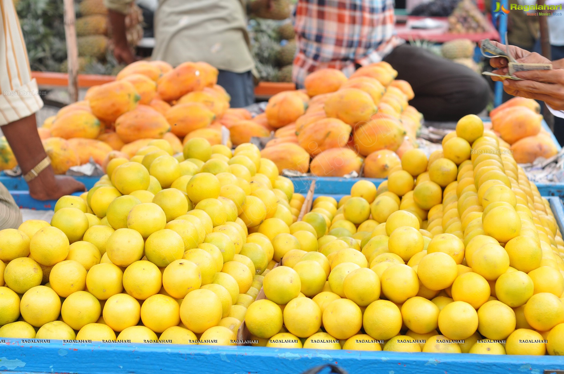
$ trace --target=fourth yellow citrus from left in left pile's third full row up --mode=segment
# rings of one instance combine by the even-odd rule
[[[143,257],[144,242],[138,231],[117,229],[106,242],[108,259],[117,266],[129,266]]]

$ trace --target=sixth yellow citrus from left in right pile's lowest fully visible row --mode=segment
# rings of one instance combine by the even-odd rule
[[[478,313],[464,301],[453,301],[439,313],[439,330],[452,340],[466,339],[478,329]]]

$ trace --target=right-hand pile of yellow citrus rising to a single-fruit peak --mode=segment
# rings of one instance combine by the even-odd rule
[[[287,348],[564,355],[564,241],[503,145],[468,115],[380,186],[318,197],[274,238],[246,327]]]

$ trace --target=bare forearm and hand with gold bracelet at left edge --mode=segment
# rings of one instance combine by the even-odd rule
[[[47,154],[39,139],[35,114],[2,126],[2,132],[12,148],[21,171],[32,170]],[[76,191],[84,191],[84,185],[70,176],[56,176],[51,166],[29,181],[29,194],[34,199],[58,199]]]

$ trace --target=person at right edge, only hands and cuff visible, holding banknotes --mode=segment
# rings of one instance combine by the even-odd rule
[[[497,47],[505,48],[503,44],[493,42]],[[564,118],[564,59],[550,61],[536,52],[529,52],[516,46],[509,46],[510,53],[518,63],[552,64],[552,70],[532,70],[530,72],[515,73],[515,77],[524,79],[517,81],[505,79],[503,89],[509,95],[527,97],[544,101],[550,112],[556,117]],[[490,59],[493,73],[507,74],[507,59],[494,57]],[[496,77],[492,77],[497,80]]]

